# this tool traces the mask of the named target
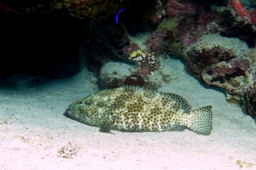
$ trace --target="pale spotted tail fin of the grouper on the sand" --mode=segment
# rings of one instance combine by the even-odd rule
[[[209,134],[212,131],[212,105],[190,111],[183,119],[184,125],[195,133]]]

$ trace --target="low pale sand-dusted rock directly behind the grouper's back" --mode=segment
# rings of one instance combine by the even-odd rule
[[[160,58],[160,68],[154,74],[142,77],[137,73],[136,65],[123,62],[108,62],[102,66],[99,83],[102,88],[119,88],[125,85],[140,86],[157,90],[165,83],[172,82],[177,76],[170,72],[164,59]]]

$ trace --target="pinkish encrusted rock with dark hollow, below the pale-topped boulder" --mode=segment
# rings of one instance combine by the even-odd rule
[[[227,99],[231,103],[240,104],[249,68],[247,59],[231,59],[207,67],[201,72],[201,77],[207,85],[226,89]]]

